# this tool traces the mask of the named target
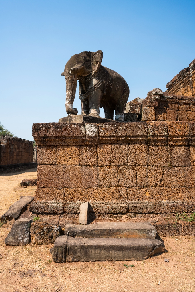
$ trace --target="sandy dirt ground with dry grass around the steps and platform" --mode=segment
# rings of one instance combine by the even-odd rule
[[[20,180],[36,175],[36,169],[0,175],[0,215],[21,195],[34,194],[36,187],[22,188]],[[167,251],[140,262],[56,264],[49,253],[52,245],[6,246],[12,224],[0,228],[1,292],[195,291],[195,237],[163,237]]]

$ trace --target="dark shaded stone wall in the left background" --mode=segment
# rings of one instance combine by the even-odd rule
[[[25,139],[0,136],[0,166],[32,163],[33,142]]]

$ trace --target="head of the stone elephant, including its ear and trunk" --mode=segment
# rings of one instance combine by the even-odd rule
[[[67,114],[77,114],[76,108],[73,108],[75,99],[77,79],[81,76],[87,76],[91,72],[97,72],[101,65],[103,52],[82,52],[74,55],[66,63],[64,72],[61,75],[66,79],[66,112]]]

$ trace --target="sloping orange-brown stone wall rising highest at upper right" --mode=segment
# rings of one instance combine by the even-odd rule
[[[167,92],[176,95],[195,95],[195,59],[166,85]]]

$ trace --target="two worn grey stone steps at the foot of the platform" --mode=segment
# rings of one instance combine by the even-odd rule
[[[150,223],[66,224],[64,233],[50,250],[56,263],[145,260],[165,251]]]

